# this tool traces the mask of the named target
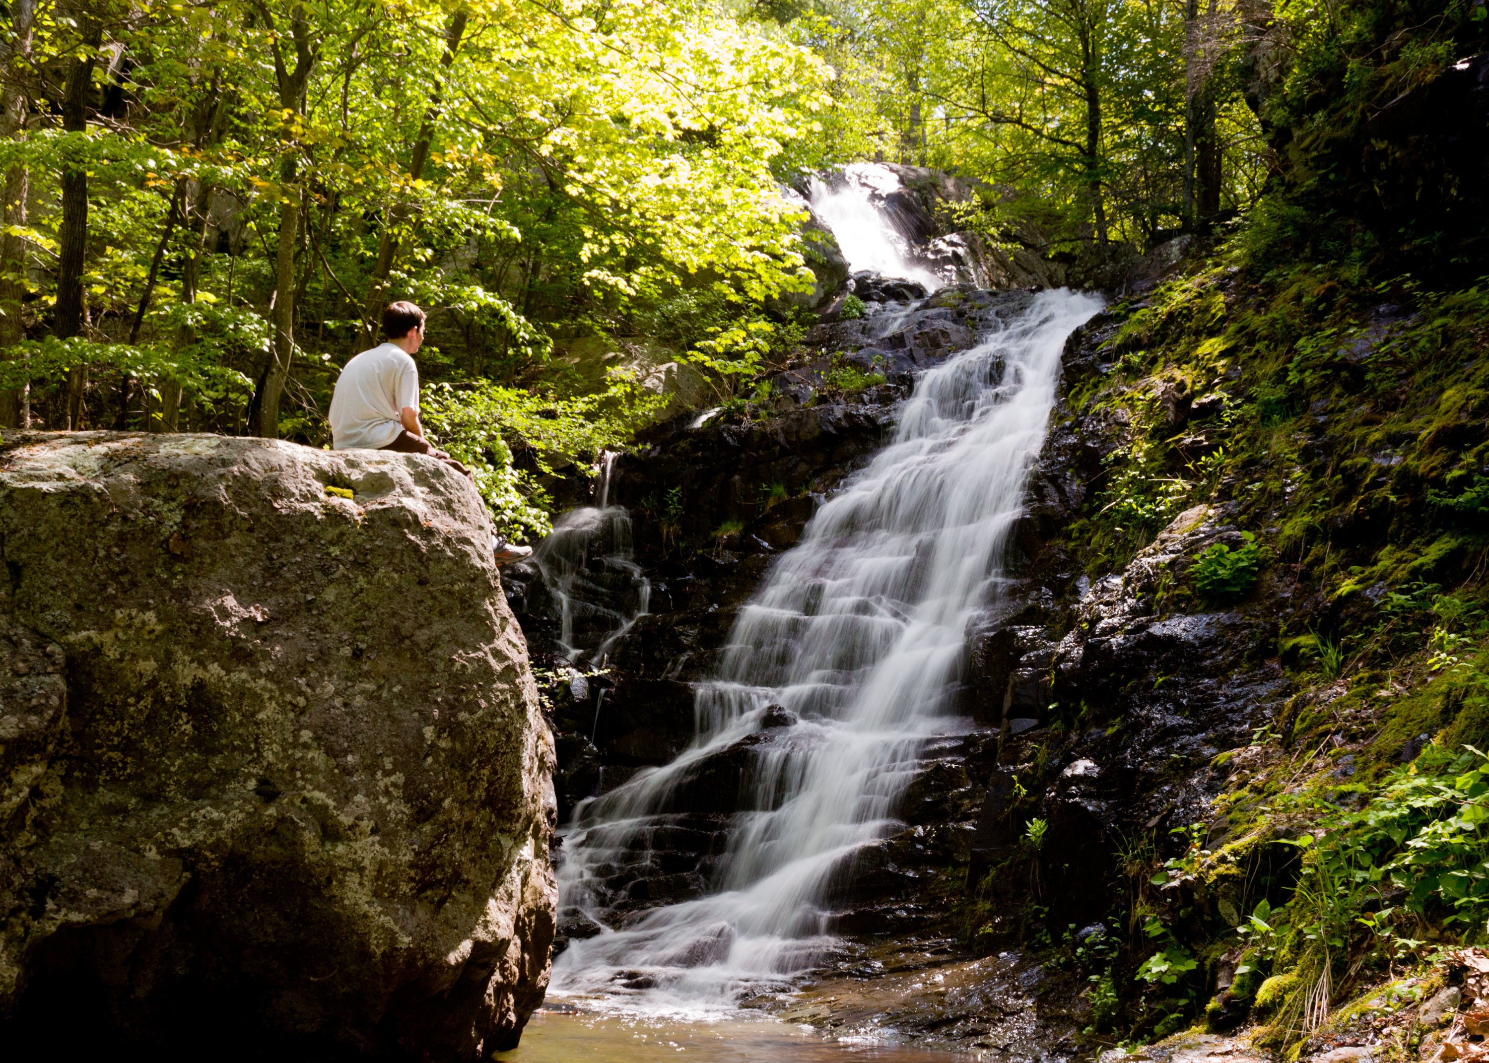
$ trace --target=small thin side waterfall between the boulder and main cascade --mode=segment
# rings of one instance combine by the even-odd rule
[[[558,606],[558,646],[572,664],[602,665],[651,603],[651,581],[631,557],[631,515],[610,505],[615,457],[600,454],[599,505],[560,517],[532,558]]]

